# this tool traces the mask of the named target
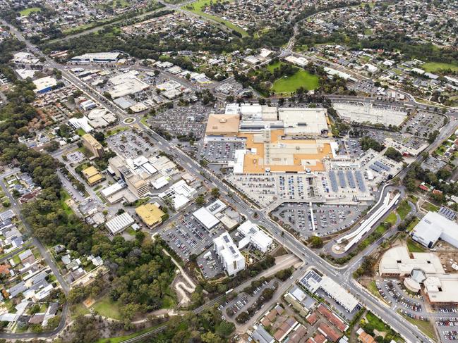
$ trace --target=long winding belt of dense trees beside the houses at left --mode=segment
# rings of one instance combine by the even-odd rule
[[[56,167],[65,171],[64,166],[52,156],[19,144],[18,136],[30,135],[28,123],[37,116],[29,104],[34,99],[32,89],[33,84],[16,80],[7,94],[8,104],[0,108],[0,160],[16,163],[42,188],[37,201],[23,207],[34,235],[47,245],[64,244],[76,254],[101,256],[114,275],[110,295],[119,299],[126,311],[161,307],[174,277],[174,264],[163,254],[162,240],[151,242],[140,232],[134,240],[115,237],[110,242],[100,230],[66,213],[61,204],[61,181],[56,175]]]

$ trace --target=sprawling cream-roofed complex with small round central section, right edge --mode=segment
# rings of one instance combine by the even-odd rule
[[[380,259],[382,277],[399,277],[412,292],[422,287],[432,304],[458,304],[458,275],[445,273],[434,253],[409,253],[406,247],[394,247]]]

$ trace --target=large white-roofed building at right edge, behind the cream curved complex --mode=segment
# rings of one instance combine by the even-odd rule
[[[458,248],[458,224],[437,212],[428,212],[414,227],[411,236],[427,248],[434,247],[439,239]]]

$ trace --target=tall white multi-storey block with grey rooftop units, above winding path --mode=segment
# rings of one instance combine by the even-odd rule
[[[219,256],[219,261],[224,266],[229,276],[236,275],[240,270],[245,269],[245,258],[232,241],[229,233],[224,232],[213,239],[213,249]]]

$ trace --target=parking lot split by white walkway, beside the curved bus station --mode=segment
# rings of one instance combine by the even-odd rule
[[[282,204],[272,213],[303,237],[332,235],[354,223],[366,206],[313,204],[313,231],[310,206],[305,203]]]

